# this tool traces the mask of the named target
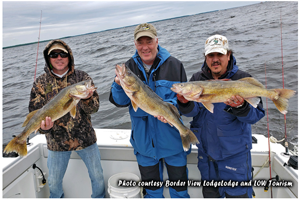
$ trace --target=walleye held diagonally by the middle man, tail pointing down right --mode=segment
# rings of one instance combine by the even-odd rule
[[[163,116],[171,126],[175,126],[178,129],[185,151],[189,150],[191,143],[199,143],[194,133],[180,121],[180,114],[174,105],[164,102],[150,87],[131,72],[125,64],[122,66],[116,65],[115,72],[120,79],[123,90],[131,99],[131,104],[135,111],[140,108],[152,116]]]

